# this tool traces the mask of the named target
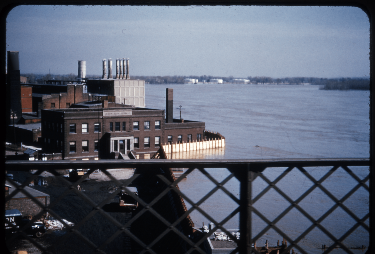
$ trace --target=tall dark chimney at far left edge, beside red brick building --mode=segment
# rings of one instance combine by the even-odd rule
[[[14,123],[22,117],[21,77],[18,51],[8,51],[7,57],[7,88],[6,88],[6,123],[10,124],[11,110],[15,114]]]

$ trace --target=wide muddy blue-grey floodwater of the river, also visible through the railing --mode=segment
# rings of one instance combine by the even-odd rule
[[[174,89],[174,118],[179,118],[178,106],[184,108],[181,118],[205,122],[206,130],[217,131],[225,137],[226,147],[202,153],[175,154],[174,158],[205,159],[266,159],[266,158],[354,158],[369,157],[369,91],[368,90],[319,90],[314,85],[244,85],[244,84],[146,84],[147,108],[165,109],[165,89]],[[350,167],[362,180],[369,174],[368,167]],[[330,168],[305,168],[315,179],[320,179]],[[206,169],[217,181],[225,179],[230,172],[225,168]],[[263,174],[270,181],[285,168],[267,168]],[[336,198],[345,196],[358,182],[342,168],[336,170],[323,186]],[[367,181],[368,185],[369,182]],[[296,200],[313,183],[294,168],[276,184],[291,199]],[[214,184],[205,174],[195,169],[179,187],[192,202],[198,202]],[[239,197],[239,181],[229,180],[224,187]],[[253,198],[267,183],[260,177],[253,185]],[[186,202],[188,208],[191,207]],[[315,220],[335,203],[320,189],[315,189],[300,203]],[[270,189],[254,203],[255,209],[267,219],[275,219],[290,203],[274,189]],[[361,187],[344,205],[354,216],[362,219],[369,213],[369,193]],[[218,190],[200,206],[214,220],[225,219],[238,205],[222,190]],[[201,213],[190,214],[197,227],[210,222]],[[266,223],[253,214],[253,237]],[[276,226],[292,239],[296,239],[312,222],[296,208],[279,220]],[[321,225],[340,238],[356,221],[342,208],[336,208]],[[369,220],[365,221],[369,225]],[[225,224],[226,229],[239,228],[239,216]],[[257,241],[263,246],[266,239],[276,245],[282,237],[273,229]],[[368,231],[359,226],[344,241],[350,248],[369,245]],[[330,246],[333,241],[320,229],[313,229],[299,245],[308,253],[323,253],[322,244]],[[298,248],[295,248],[298,251]],[[351,249],[354,253],[363,250]],[[332,253],[342,253],[336,249]]]

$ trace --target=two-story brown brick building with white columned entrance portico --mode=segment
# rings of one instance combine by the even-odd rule
[[[106,100],[42,110],[43,151],[62,153],[63,159],[118,158],[130,151],[137,158],[150,158],[162,144],[201,139],[204,128],[203,122],[165,123],[161,109]]]

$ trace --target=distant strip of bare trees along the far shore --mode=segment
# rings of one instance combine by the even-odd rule
[[[43,84],[46,80],[66,80],[75,81],[78,75],[73,73],[64,75],[54,75],[54,74],[33,74],[26,73],[21,74],[23,77],[28,77],[28,83]],[[101,78],[101,75],[87,75],[87,78]],[[320,85],[319,89],[323,90],[348,90],[348,89],[359,89],[359,90],[369,90],[370,80],[369,78],[314,78],[314,77],[292,77],[292,78],[272,78],[265,76],[256,77],[246,77],[246,78],[235,78],[233,76],[229,77],[217,77],[211,75],[201,75],[201,76],[130,76],[132,79],[144,80],[146,83],[150,84],[182,84],[185,78],[193,78],[199,82],[206,81],[210,79],[222,79],[223,83],[230,83],[233,79],[246,79],[249,80],[249,84],[314,84]]]

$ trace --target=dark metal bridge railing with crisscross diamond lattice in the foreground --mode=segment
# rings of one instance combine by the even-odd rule
[[[39,216],[42,216],[43,213],[48,212],[54,218],[60,220],[61,223],[63,223],[69,230],[68,233],[61,236],[56,242],[51,243],[51,246],[62,243],[65,241],[70,235],[75,234],[77,235],[81,241],[86,242],[90,247],[92,247],[93,252],[99,251],[101,253],[105,253],[104,248],[106,245],[110,244],[119,234],[125,233],[128,237],[132,239],[132,241],[136,242],[141,247],[140,253],[157,253],[153,250],[153,247],[155,244],[162,239],[163,237],[167,236],[169,232],[173,232],[175,235],[180,237],[183,241],[187,243],[187,246],[190,248],[186,249],[186,253],[206,253],[204,250],[202,250],[201,247],[204,241],[207,240],[207,237],[210,236],[215,230],[221,230],[225,232],[228,237],[232,238],[234,242],[237,244],[237,248],[231,251],[231,253],[261,253],[260,248],[255,248],[252,246],[258,239],[260,239],[269,229],[275,230],[279,235],[281,235],[286,241],[288,241],[288,246],[280,254],[282,253],[290,253],[292,248],[296,249],[297,252],[307,254],[309,253],[309,250],[305,250],[301,245],[300,242],[302,239],[305,238],[306,235],[308,235],[312,230],[319,229],[324,234],[326,234],[333,242],[332,245],[327,246],[324,248],[323,253],[330,253],[335,248],[341,248],[346,253],[353,253],[348,246],[346,246],[343,241],[351,235],[358,227],[362,227],[367,232],[370,231],[369,226],[365,223],[366,220],[369,219],[369,213],[365,214],[363,217],[357,217],[356,214],[353,213],[346,205],[344,205],[344,201],[347,200],[356,190],[363,187],[367,192],[369,192],[369,186],[366,182],[369,181],[370,174],[367,174],[365,177],[359,177],[356,174],[353,173],[353,171],[350,169],[350,167],[357,167],[357,166],[365,166],[370,167],[370,161],[368,158],[319,158],[319,159],[265,159],[265,160],[255,160],[255,159],[247,159],[247,160],[127,160],[127,161],[120,161],[120,160],[106,160],[106,161],[7,161],[6,162],[6,170],[11,171],[29,171],[29,170],[37,170],[34,175],[40,175],[43,171],[48,171],[54,174],[56,177],[61,177],[60,174],[57,173],[56,170],[61,169],[79,169],[79,168],[90,168],[87,172],[87,174],[84,175],[80,180],[77,182],[69,182],[68,180],[64,180],[66,184],[66,190],[62,193],[58,198],[55,198],[54,200],[51,200],[51,203],[45,207],[43,204],[41,204],[36,198],[34,198],[30,193],[28,193],[26,190],[24,190],[24,186],[28,186],[29,183],[32,180],[32,176],[23,182],[17,190],[12,192],[7,198],[6,201],[10,200],[12,196],[16,195],[18,192],[24,193],[24,195],[28,196],[30,199],[32,199],[37,205],[39,205],[43,210],[38,214]],[[263,171],[266,168],[279,168],[278,176],[275,178],[275,180],[269,180],[264,174]],[[305,169],[306,167],[329,167],[329,170],[327,170],[327,173],[325,173],[322,177],[319,179],[315,179],[308,171]],[[115,169],[115,168],[135,168],[135,174],[133,174],[130,179],[127,179],[124,182],[120,182],[118,179],[116,179],[113,175],[111,175],[107,170],[108,169]],[[162,181],[165,186],[168,186],[168,188],[163,189],[152,201],[145,202],[138,196],[133,195],[132,193],[129,193],[133,196],[134,199],[136,199],[140,206],[142,207],[141,210],[132,217],[128,222],[125,224],[118,222],[116,219],[114,219],[113,216],[108,214],[103,210],[103,207],[107,202],[109,202],[115,195],[117,195],[122,189],[124,189],[126,186],[128,186],[130,183],[132,183],[134,180],[136,180],[138,177],[140,177],[142,174],[148,174],[150,172],[153,172],[155,169],[159,168],[188,168],[182,175],[182,177],[179,177],[178,179],[168,179],[165,177],[165,174],[156,173],[153,174]],[[230,172],[230,174],[221,182],[218,182],[214,179],[214,177],[210,176],[210,174],[207,173],[207,168],[227,168]],[[286,169],[285,169],[286,168]],[[333,195],[329,190],[327,190],[323,186],[323,182],[329,178],[336,170],[341,168],[342,170],[346,171],[355,181],[356,185],[354,188],[349,189],[342,198],[336,198],[335,195]],[[77,190],[77,186],[87,179],[90,174],[92,174],[95,170],[101,170],[103,173],[105,173],[112,182],[114,182],[116,185],[120,186],[119,189],[111,193],[107,198],[105,198],[102,202],[94,202],[92,199],[87,197],[83,192],[79,192]],[[302,193],[299,198],[293,199],[290,198],[287,194],[285,194],[278,186],[277,183],[280,182],[284,177],[287,177],[288,173],[296,169],[303,175],[305,175],[309,180],[312,182],[312,186],[308,188],[304,193]],[[205,174],[205,176],[208,177],[208,179],[211,180],[212,183],[214,183],[215,187],[209,191],[207,194],[204,195],[203,198],[201,198],[198,202],[193,202],[192,199],[190,199],[188,196],[186,196],[183,192],[180,191],[180,189],[177,187],[177,184],[186,176],[189,176],[189,174],[193,170],[199,170],[201,173]],[[260,191],[256,196],[254,196],[253,191],[253,183],[255,179],[261,178],[264,180],[264,182],[267,183],[266,188],[264,188],[262,191]],[[61,177],[63,178],[63,177]],[[227,188],[225,188],[225,183],[227,183],[230,179],[236,178],[239,183],[239,191],[240,191],[240,198],[237,198],[236,195],[229,192]],[[9,181],[12,181],[8,179]],[[343,185],[346,183],[343,182]],[[223,192],[225,192],[231,199],[233,199],[236,204],[238,204],[238,207],[228,216],[223,219],[222,221],[216,221],[210,214],[207,214],[204,210],[202,210],[199,206],[206,201],[213,193],[215,193],[217,190],[221,189]],[[284,211],[282,211],[275,219],[269,220],[266,216],[264,216],[260,211],[258,211],[254,203],[260,200],[269,190],[275,190],[277,193],[279,193],[283,198],[285,198],[288,201],[288,206]],[[309,211],[305,211],[300,205],[300,201],[302,201],[306,196],[308,196],[310,193],[312,193],[315,189],[320,189],[322,192],[325,193],[332,201],[334,202],[334,205],[330,207],[326,213],[324,213],[322,216],[320,216],[318,219],[314,219],[313,216],[309,214]],[[190,208],[185,209],[185,212],[179,216],[177,220],[175,220],[173,223],[169,222],[165,219],[158,211],[156,211],[153,208],[153,205],[156,204],[160,199],[165,196],[168,191],[173,190],[175,193],[178,193],[183,199],[184,202],[188,203]],[[58,202],[60,202],[66,195],[69,193],[74,192],[77,194],[81,199],[88,202],[92,207],[93,210],[86,214],[86,216],[77,224],[75,224],[73,227],[69,226],[67,223],[63,221],[63,218],[59,216],[57,213],[54,212],[54,207]],[[370,207],[371,207],[371,200]],[[333,233],[331,233],[329,230],[327,230],[321,222],[323,222],[324,219],[326,219],[330,214],[333,213],[333,211],[336,210],[336,208],[341,207],[342,210],[344,210],[354,221],[355,224],[346,232],[341,232],[341,237],[336,238]],[[285,233],[282,229],[280,229],[276,224],[288,214],[292,209],[296,208],[300,213],[302,213],[305,218],[307,218],[311,222],[311,226],[309,226],[304,232],[302,232],[298,237],[292,238],[287,233]],[[210,230],[210,232],[205,233],[203,237],[199,239],[199,241],[192,241],[192,239],[189,238],[189,236],[185,235],[181,232],[181,230],[177,227],[178,223],[181,223],[182,220],[184,220],[186,217],[189,216],[193,211],[198,211],[199,213],[203,214],[208,220],[214,223],[215,227],[213,230]],[[153,239],[153,241],[149,243],[144,243],[139,239],[138,236],[134,235],[131,230],[129,230],[129,227],[133,222],[136,221],[142,214],[144,213],[151,213],[154,217],[156,217],[160,223],[162,223],[165,226],[165,230],[157,236],[156,239]],[[113,235],[111,235],[106,241],[102,242],[102,244],[96,244],[95,242],[92,242],[89,238],[84,236],[80,233],[80,227],[87,222],[92,216],[94,216],[96,213],[102,214],[109,222],[113,223],[115,227],[117,227],[117,230]],[[240,239],[237,239],[235,236],[231,235],[231,233],[224,227],[224,224],[228,222],[231,218],[233,218],[236,214],[239,213],[239,229],[241,232]],[[257,235],[254,235],[252,232],[252,220],[253,220],[253,214],[256,214],[261,220],[263,220],[264,223],[267,224],[267,226],[261,230]],[[36,218],[37,216],[35,216]],[[27,226],[23,227],[21,229],[24,230]],[[23,233],[23,235],[32,242],[36,247],[38,247],[43,252],[51,251],[52,248],[50,247],[43,247],[33,238],[28,237],[26,234]],[[284,241],[283,241],[284,242]],[[323,248],[322,248],[323,249]]]

